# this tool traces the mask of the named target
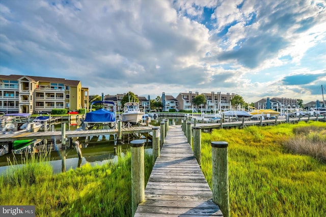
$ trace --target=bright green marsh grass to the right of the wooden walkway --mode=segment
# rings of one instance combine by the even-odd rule
[[[202,170],[210,187],[210,142],[229,143],[232,216],[326,216],[326,165],[283,146],[293,128],[304,126],[326,129],[326,123],[300,122],[202,134]]]

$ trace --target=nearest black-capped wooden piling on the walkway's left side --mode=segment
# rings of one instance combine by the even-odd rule
[[[130,142],[131,149],[131,212],[132,216],[139,203],[145,201],[144,177],[144,140],[137,139]]]

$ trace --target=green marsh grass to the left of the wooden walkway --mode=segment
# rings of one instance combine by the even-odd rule
[[[151,169],[152,157],[145,152],[145,180]],[[36,205],[37,216],[130,216],[130,171],[130,152],[115,164],[86,164],[60,174],[28,162],[1,176],[0,204]]]

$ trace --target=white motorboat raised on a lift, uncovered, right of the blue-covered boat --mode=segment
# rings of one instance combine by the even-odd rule
[[[139,103],[127,102],[124,104],[124,111],[120,115],[120,119],[125,123],[137,124],[143,121],[144,114],[145,112],[139,108]]]

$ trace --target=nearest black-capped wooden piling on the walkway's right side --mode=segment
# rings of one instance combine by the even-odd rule
[[[211,142],[212,146],[212,193],[225,217],[229,217],[228,143]]]

